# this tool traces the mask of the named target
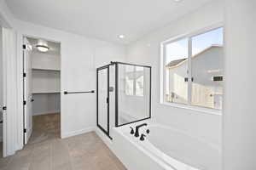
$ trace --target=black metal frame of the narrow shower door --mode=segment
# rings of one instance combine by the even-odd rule
[[[107,104],[108,104],[108,129],[104,129],[100,124],[99,124],[99,77],[98,77],[98,74],[99,74],[99,71],[102,71],[102,70],[105,70],[107,69],[107,73],[108,73],[108,97],[107,97]],[[109,139],[112,139],[109,135],[109,65],[104,65],[102,67],[99,67],[97,68],[96,70],[96,124],[97,124],[97,127],[99,127],[103,133],[105,133]]]

